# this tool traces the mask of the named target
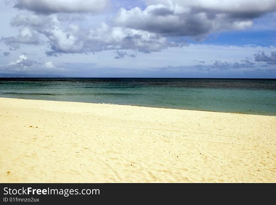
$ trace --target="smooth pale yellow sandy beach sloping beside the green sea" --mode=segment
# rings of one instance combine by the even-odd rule
[[[0,182],[276,182],[276,117],[0,98]]]

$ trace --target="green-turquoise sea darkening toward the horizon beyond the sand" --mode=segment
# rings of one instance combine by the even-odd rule
[[[276,79],[0,78],[0,97],[276,116]]]

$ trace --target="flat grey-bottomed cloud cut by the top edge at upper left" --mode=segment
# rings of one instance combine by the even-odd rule
[[[16,0],[14,7],[42,14],[99,13],[108,4],[108,0]]]

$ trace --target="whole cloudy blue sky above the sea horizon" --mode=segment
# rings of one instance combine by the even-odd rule
[[[276,78],[275,0],[1,0],[0,73]]]

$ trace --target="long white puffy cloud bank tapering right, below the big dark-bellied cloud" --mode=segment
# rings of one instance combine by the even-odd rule
[[[155,33],[111,27],[106,23],[102,23],[99,28],[89,30],[74,25],[62,30],[57,25],[52,26],[50,30],[46,30],[44,33],[50,39],[51,50],[47,51],[47,55],[94,53],[103,50],[122,49],[151,53],[167,47],[180,46],[180,44],[169,42],[166,38]]]

